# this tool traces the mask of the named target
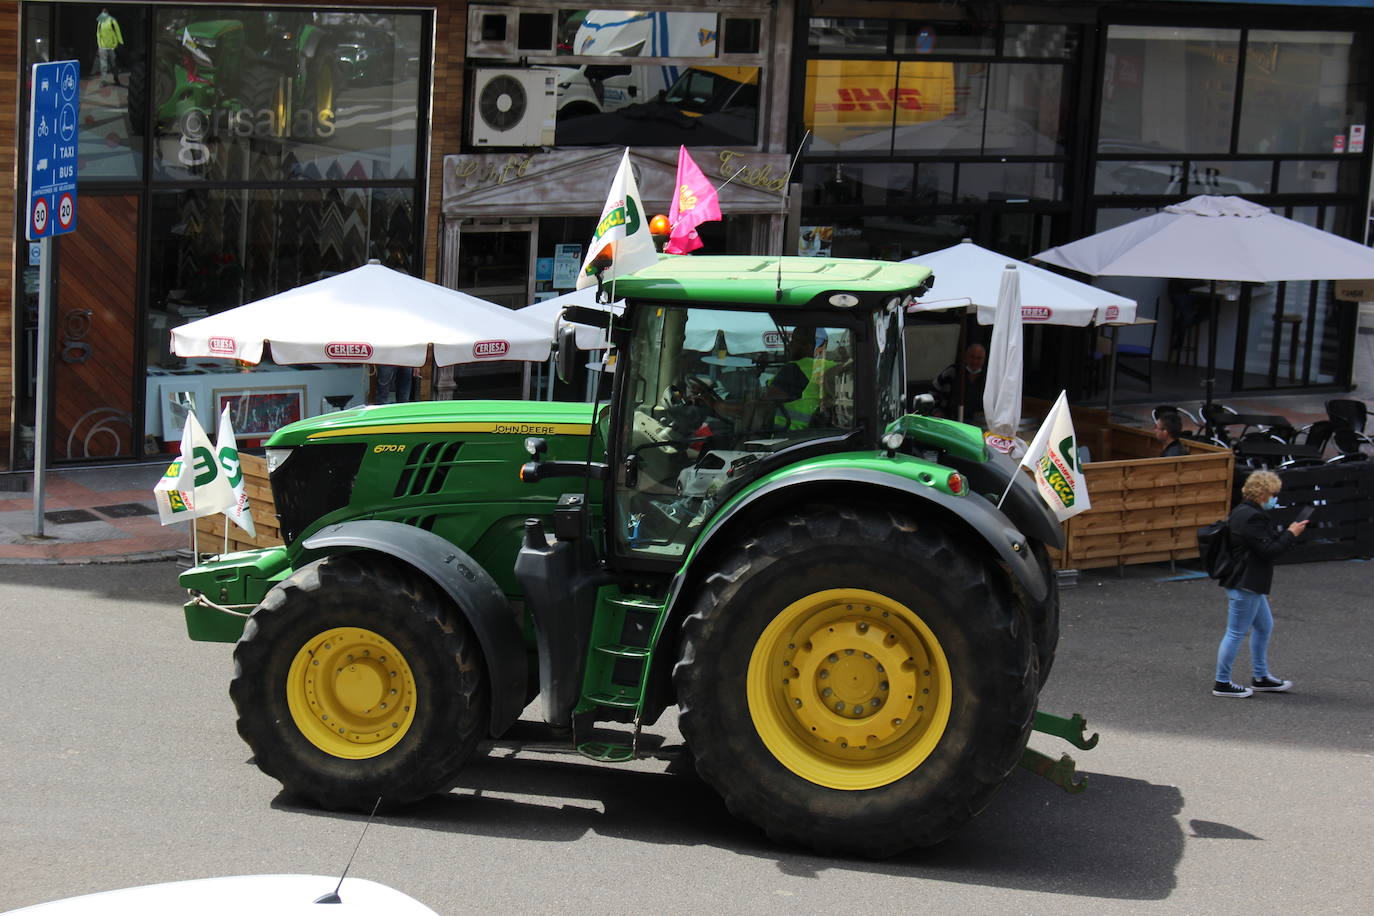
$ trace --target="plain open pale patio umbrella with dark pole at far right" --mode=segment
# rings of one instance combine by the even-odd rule
[[[1213,301],[1217,280],[1374,277],[1374,250],[1235,196],[1197,196],[1035,257],[1091,276],[1210,280]],[[1210,321],[1208,332],[1208,402],[1216,376],[1216,325]]]

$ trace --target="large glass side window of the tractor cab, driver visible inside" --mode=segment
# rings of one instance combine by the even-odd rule
[[[621,551],[682,555],[750,464],[852,430],[853,338],[789,310],[642,309],[624,367]]]

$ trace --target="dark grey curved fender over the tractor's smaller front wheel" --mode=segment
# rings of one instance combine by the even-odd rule
[[[519,718],[525,707],[525,641],[514,608],[477,560],[431,531],[372,519],[328,525],[301,545],[312,555],[348,549],[386,553],[433,580],[453,599],[482,647],[492,735],[502,735]]]

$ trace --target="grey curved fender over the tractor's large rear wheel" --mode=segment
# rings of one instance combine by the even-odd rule
[[[826,467],[776,477],[713,518],[709,529],[702,533],[692,547],[691,558],[673,578],[669,591],[669,604],[676,603],[677,593],[686,584],[694,560],[710,548],[712,540],[720,531],[728,529],[732,519],[739,518],[750,507],[756,507],[764,500],[778,499],[785,490],[793,493],[793,496],[780,499],[780,503],[787,504],[796,501],[801,490],[818,486],[823,486],[827,490],[844,488],[851,493],[855,489],[870,489],[877,496],[888,500],[900,493],[905,497],[933,503],[962,522],[966,529],[981,537],[992,548],[998,559],[1007,564],[1007,569],[1011,570],[1011,574],[1021,584],[1021,588],[1025,589],[1030,600],[1043,600],[1050,589],[1050,584],[1046,581],[1044,573],[1036,562],[1035,553],[1030,551],[1026,536],[988,500],[976,494],[949,496],[897,474],[885,474],[868,468]]]

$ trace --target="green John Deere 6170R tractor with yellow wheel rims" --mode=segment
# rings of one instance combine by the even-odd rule
[[[238,640],[257,765],[324,808],[396,808],[451,788],[539,698],[607,764],[676,705],[730,810],[823,851],[934,843],[1018,762],[1080,788],[1026,748],[1032,726],[1091,746],[1077,715],[1036,711],[1059,526],[977,428],[905,412],[903,313],[930,283],[664,258],[617,280],[624,314],[565,316],[607,325],[610,404],[278,431],[286,545],[181,575],[191,637]]]

